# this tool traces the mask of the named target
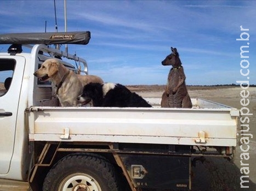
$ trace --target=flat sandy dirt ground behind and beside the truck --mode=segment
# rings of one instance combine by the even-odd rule
[[[161,97],[164,91],[164,86],[128,86],[131,91],[134,91],[143,97]],[[239,87],[188,87],[191,98],[204,98],[213,102],[229,105],[237,109],[241,109],[243,106],[240,103],[240,92],[243,90]],[[249,178],[244,179],[249,182],[243,183],[243,186],[249,186],[249,188],[241,188],[242,176],[240,169],[242,153],[240,146],[237,146],[235,161],[229,162],[224,158],[219,157],[207,157],[206,161],[196,163],[196,167],[192,167],[192,190],[206,191],[233,191],[233,190],[256,190],[256,87],[249,87],[249,105],[246,106],[249,109],[249,113],[253,115],[249,117],[249,132],[253,135],[253,138],[249,139],[249,159],[244,160],[243,163],[249,163]],[[244,119],[245,116],[243,116]],[[244,149],[246,147],[243,147]]]

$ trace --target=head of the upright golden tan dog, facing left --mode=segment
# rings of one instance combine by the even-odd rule
[[[51,80],[58,73],[60,64],[58,59],[47,59],[42,63],[41,67],[35,71],[34,75],[37,76],[40,81]]]

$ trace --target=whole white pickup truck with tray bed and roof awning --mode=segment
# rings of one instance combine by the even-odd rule
[[[88,74],[84,59],[50,44],[89,39],[0,35],[11,45],[0,52],[0,190],[190,190],[192,158],[234,156],[240,112],[229,106],[194,98],[192,109],[160,108],[145,98],[152,108],[60,107],[55,87],[33,73],[57,57]]]

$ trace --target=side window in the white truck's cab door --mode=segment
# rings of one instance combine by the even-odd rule
[[[15,59],[0,59],[0,97],[8,92],[12,83]]]

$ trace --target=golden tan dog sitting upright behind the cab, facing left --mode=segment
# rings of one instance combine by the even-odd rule
[[[83,84],[77,74],[67,69],[59,59],[44,61],[35,73],[40,81],[52,81],[56,85],[56,96],[61,106],[79,106],[77,96],[83,91]]]

